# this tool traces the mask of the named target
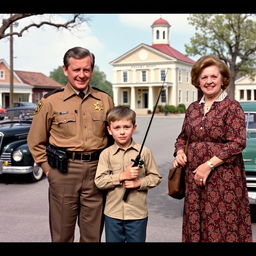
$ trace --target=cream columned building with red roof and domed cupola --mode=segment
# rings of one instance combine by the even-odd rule
[[[137,113],[153,110],[165,80],[159,105],[185,104],[197,100],[191,85],[194,61],[169,45],[170,24],[163,18],[151,25],[152,45],[141,43],[111,61],[115,105],[130,105]]]

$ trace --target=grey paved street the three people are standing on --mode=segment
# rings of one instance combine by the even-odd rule
[[[167,172],[182,116],[156,116],[145,145],[151,148],[163,176],[162,183],[149,191],[147,242],[180,242],[183,200],[167,195]],[[134,139],[141,143],[149,117],[138,117]],[[28,183],[20,177],[0,177],[0,242],[49,242],[48,181]],[[256,214],[253,236],[256,241]],[[78,229],[75,241],[79,240]],[[104,235],[103,235],[104,241]]]

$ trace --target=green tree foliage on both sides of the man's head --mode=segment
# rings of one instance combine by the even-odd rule
[[[67,78],[64,75],[61,66],[51,71],[50,77],[60,84],[65,85],[67,83]],[[106,80],[105,73],[100,71],[97,65],[94,66],[91,85],[113,96],[112,84]]]

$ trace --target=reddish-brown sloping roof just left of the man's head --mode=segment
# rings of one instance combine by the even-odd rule
[[[59,88],[63,86],[40,72],[15,70],[15,73],[19,76],[23,83],[31,85],[35,88]]]

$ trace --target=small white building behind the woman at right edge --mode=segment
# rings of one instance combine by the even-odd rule
[[[256,76],[254,80],[243,76],[235,82],[235,99],[239,102],[256,101]]]

